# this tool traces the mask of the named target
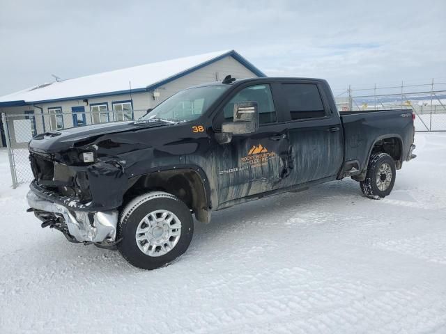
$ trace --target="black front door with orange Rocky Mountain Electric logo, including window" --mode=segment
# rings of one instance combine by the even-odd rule
[[[259,129],[252,134],[233,135],[230,143],[213,145],[213,164],[217,173],[219,207],[224,202],[264,193],[279,186],[288,170],[286,125],[277,122],[269,84],[241,86],[227,99],[213,122],[233,121],[235,103],[255,101],[259,107]]]

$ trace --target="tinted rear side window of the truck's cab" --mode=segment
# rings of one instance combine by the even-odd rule
[[[316,84],[282,84],[291,120],[326,116],[321,93]]]

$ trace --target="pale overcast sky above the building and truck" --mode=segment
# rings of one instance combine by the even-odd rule
[[[445,13],[445,0],[0,0],[0,95],[224,49],[335,93],[446,80]]]

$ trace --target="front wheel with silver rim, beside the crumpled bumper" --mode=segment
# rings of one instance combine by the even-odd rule
[[[185,253],[193,233],[187,206],[170,193],[154,191],[134,198],[122,210],[118,250],[134,267],[157,269]]]

